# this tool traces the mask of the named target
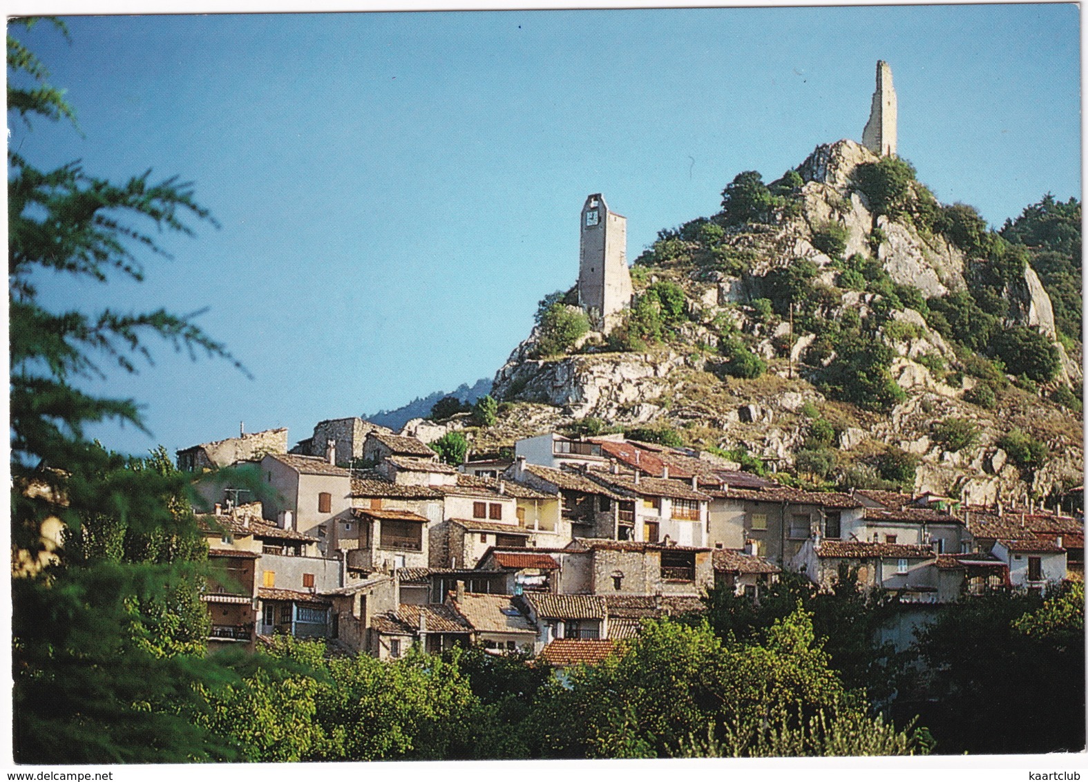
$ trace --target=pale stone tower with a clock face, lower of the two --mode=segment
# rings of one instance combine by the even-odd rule
[[[627,218],[608,209],[595,193],[585,199],[581,221],[578,303],[590,313],[595,328],[608,331],[609,315],[631,306],[631,274],[627,269]]]

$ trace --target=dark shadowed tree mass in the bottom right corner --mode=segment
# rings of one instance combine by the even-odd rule
[[[1083,606],[1063,591],[1046,604],[1005,591],[961,598],[918,634],[927,672],[898,706],[920,712],[942,753],[1081,752]]]

